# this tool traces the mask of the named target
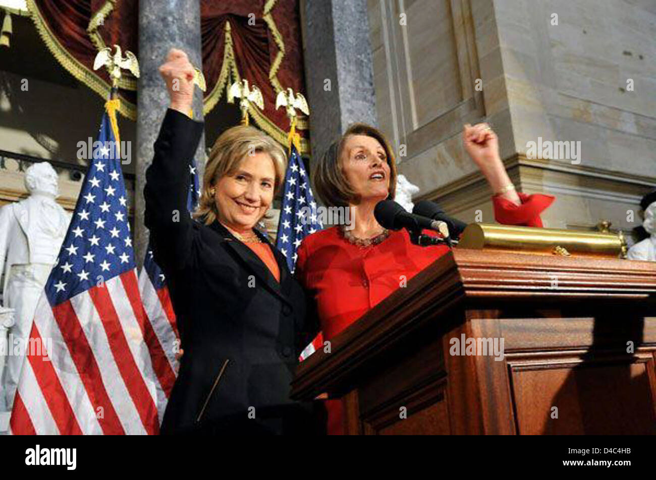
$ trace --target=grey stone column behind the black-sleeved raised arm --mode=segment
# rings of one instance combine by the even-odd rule
[[[139,1],[139,68],[136,115],[136,187],[134,191],[134,247],[141,266],[148,247],[144,226],[146,169],[153,159],[153,144],[169,106],[166,85],[157,68],[172,47],[184,50],[194,66],[201,68],[200,0]],[[203,96],[194,92],[194,118],[203,119]],[[196,151],[199,178],[203,176],[205,136]],[[180,159],[182,160],[182,159]]]

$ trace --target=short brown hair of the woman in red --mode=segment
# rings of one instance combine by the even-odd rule
[[[352,123],[342,137],[337,142],[333,142],[328,147],[328,150],[323,153],[316,170],[314,170],[314,188],[321,201],[327,207],[346,207],[348,203],[356,199],[357,194],[348,184],[339,163],[340,156],[344,151],[346,138],[351,135],[370,136],[380,142],[380,146],[385,150],[387,163],[390,166],[390,190],[388,198],[394,199],[394,194],[396,193],[396,161],[394,160],[392,147],[390,147],[387,138],[385,138],[379,129],[371,127],[371,125],[367,125],[366,123]]]

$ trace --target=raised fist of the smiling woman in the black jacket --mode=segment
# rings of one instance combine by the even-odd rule
[[[171,49],[166,62],[159,66],[159,74],[166,82],[171,108],[188,115],[194,100],[194,66],[182,50]]]

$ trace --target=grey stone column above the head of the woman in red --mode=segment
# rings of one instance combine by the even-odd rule
[[[377,125],[366,0],[303,0],[301,5],[312,155],[350,123]]]

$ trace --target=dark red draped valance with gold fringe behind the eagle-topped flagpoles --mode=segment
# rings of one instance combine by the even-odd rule
[[[92,68],[98,50],[116,44],[138,56],[138,0],[28,0],[28,8],[58,62],[103,98],[111,82],[104,68]],[[264,110],[249,108],[255,124],[287,144],[289,119],[275,107],[280,90],[305,94],[298,0],[201,0],[201,41],[203,112],[225,98],[231,83],[246,78],[264,97]],[[136,79],[129,71],[123,71],[119,97],[119,111],[136,119]],[[303,136],[306,117],[299,117],[297,129]],[[305,138],[301,148],[308,151]]]

